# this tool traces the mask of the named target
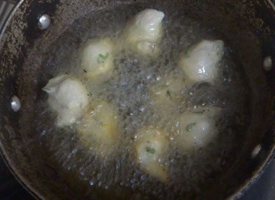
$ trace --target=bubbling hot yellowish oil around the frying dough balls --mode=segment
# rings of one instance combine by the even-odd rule
[[[102,195],[98,198],[109,199],[111,196],[104,194],[111,192],[113,199],[177,199],[203,192],[207,190],[206,185],[217,181],[219,174],[224,173],[230,167],[230,161],[236,158],[250,120],[248,83],[226,38],[219,34],[219,30],[188,19],[175,8],[155,8],[166,15],[159,56],[144,57],[122,49],[115,56],[115,71],[109,80],[83,78],[84,72],[80,70],[77,58],[78,47],[89,38],[105,36],[121,43],[120,36],[126,21],[144,8],[150,6],[120,5],[97,10],[78,19],[54,41],[43,65],[45,73],[41,74],[41,79],[45,83],[58,74],[70,74],[89,89],[91,100],[107,100],[118,113],[119,126],[122,127],[118,134],[120,143],[110,150],[115,153],[102,158],[79,142],[74,126],[65,129],[53,126],[55,115],[48,109],[46,94],[36,104],[37,109],[43,107],[43,115],[36,119],[35,125],[40,133],[39,142],[49,153],[49,160],[75,190],[88,197],[97,197],[95,194],[98,192]],[[166,121],[149,103],[150,87],[167,73],[180,74],[177,67],[180,52],[201,39],[225,41],[219,78],[213,85],[188,85],[182,91],[185,101],[178,110],[181,113],[194,107],[219,107],[221,112],[215,117],[219,134],[210,145],[191,155],[182,155],[170,142],[170,152],[166,157],[170,181],[162,184],[135,163],[135,133],[142,126],[153,123],[165,128]]]

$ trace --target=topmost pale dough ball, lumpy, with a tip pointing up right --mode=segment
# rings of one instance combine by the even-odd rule
[[[157,54],[158,43],[163,34],[162,19],[164,13],[153,9],[137,13],[124,29],[126,45],[136,49],[140,54]]]

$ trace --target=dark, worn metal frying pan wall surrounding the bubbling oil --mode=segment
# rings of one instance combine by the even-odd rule
[[[45,148],[35,140],[37,133],[32,122],[40,113],[32,106],[45,85],[39,77],[53,41],[58,41],[58,36],[86,13],[127,3],[148,3],[152,8],[174,6],[184,16],[221,30],[234,47],[250,85],[250,126],[225,169],[212,175],[208,190],[192,194],[192,199],[239,199],[259,179],[274,156],[275,68],[263,69],[267,56],[275,62],[275,5],[271,0],[21,1],[5,24],[0,41],[0,152],[3,159],[36,199],[120,199],[115,196],[115,188],[109,194],[95,189],[92,195],[87,195],[81,185],[69,184],[69,178],[51,164]],[[51,18],[45,30],[37,25],[43,14]],[[11,107],[14,96],[21,100],[18,112]],[[131,188],[126,188],[126,194],[127,199],[144,197],[144,194],[135,195]]]

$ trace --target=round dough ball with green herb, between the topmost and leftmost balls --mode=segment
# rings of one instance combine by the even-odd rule
[[[110,38],[93,38],[78,49],[80,65],[86,78],[109,75],[114,68],[114,45]]]

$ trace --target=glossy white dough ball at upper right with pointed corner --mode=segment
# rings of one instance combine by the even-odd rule
[[[181,54],[179,67],[192,82],[212,82],[217,77],[222,56],[223,41],[203,40]]]

